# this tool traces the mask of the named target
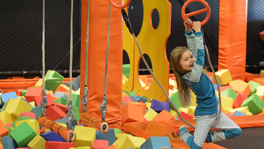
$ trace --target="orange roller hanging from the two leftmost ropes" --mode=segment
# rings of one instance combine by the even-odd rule
[[[69,130],[68,128],[61,126],[60,124],[55,123],[54,121],[48,119],[47,117],[38,118],[39,124],[43,127],[55,132],[62,136],[67,142],[76,141],[76,134],[73,130]]]

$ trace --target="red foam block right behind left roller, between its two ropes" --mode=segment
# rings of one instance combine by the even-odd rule
[[[56,121],[67,116],[67,114],[64,113],[60,108],[54,107],[52,105],[47,108],[45,114],[46,117],[52,121]]]

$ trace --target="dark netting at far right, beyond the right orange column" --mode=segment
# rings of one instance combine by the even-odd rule
[[[264,30],[264,3],[260,0],[248,0],[247,16],[247,65],[259,65],[264,61],[264,43],[259,33]]]

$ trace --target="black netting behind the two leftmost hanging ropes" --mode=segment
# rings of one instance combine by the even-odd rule
[[[80,69],[80,0],[73,2],[73,64]],[[0,70],[42,70],[42,0],[0,1]],[[71,0],[45,0],[46,70],[69,70]]]

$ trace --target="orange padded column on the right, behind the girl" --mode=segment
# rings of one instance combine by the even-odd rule
[[[218,70],[245,80],[247,0],[220,0]]]

